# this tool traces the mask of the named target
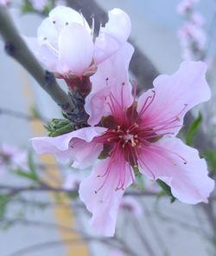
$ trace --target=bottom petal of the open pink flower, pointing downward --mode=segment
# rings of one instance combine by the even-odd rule
[[[104,236],[112,236],[115,233],[118,207],[124,194],[122,189],[116,190],[119,167],[121,167],[118,162],[112,163],[111,172],[108,176],[98,177],[98,175],[105,174],[111,164],[110,161],[110,158],[99,161],[92,174],[79,186],[80,200],[86,204],[88,211],[92,213],[90,224],[98,235]],[[124,164],[124,172],[127,187],[130,185],[130,171],[126,164]],[[98,192],[95,193],[97,190]]]

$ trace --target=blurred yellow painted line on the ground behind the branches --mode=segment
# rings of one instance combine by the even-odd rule
[[[34,103],[34,95],[33,91],[30,88],[30,82],[29,82],[29,76],[25,73],[24,70],[22,70],[22,84],[24,89],[25,96],[29,99],[29,107],[32,103]],[[31,121],[31,128],[35,134],[35,136],[41,136],[45,135],[45,129],[43,128],[43,125],[41,121]],[[40,161],[47,166],[44,180],[47,181],[50,185],[59,187],[60,184],[62,184],[62,179],[60,176],[60,171],[58,167],[56,166],[56,162],[54,160],[54,157],[51,155],[41,155]],[[51,167],[52,166],[52,167]],[[49,179],[50,174],[52,175],[52,178]],[[54,194],[50,193],[53,200]],[[60,205],[56,204],[54,207],[54,217],[56,220],[56,223],[60,226],[67,226],[67,227],[75,227],[75,216],[73,213],[73,209],[69,207],[69,199],[65,194],[60,194],[60,203],[68,206],[68,207],[60,207]],[[78,240],[81,239],[79,233],[69,233],[63,229],[59,229],[60,237],[62,239],[62,244],[64,243],[64,246],[66,248],[67,256],[87,256],[88,249],[85,242],[82,243],[67,243],[66,240]]]

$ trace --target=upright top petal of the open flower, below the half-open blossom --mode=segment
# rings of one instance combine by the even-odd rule
[[[96,74],[92,75],[92,92],[86,97],[85,105],[86,112],[90,115],[88,120],[90,125],[97,124],[103,115],[111,115],[110,108],[107,108],[110,94],[115,96],[120,105],[123,103],[122,108],[130,107],[133,97],[131,85],[128,82],[128,69],[133,51],[130,43],[124,43],[122,48],[115,55],[102,62],[98,66]],[[125,83],[124,87],[123,82]]]

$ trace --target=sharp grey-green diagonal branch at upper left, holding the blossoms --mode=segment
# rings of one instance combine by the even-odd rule
[[[54,102],[62,110],[72,112],[74,107],[73,102],[64,90],[60,88],[54,78],[54,74],[41,68],[40,63],[36,60],[16,30],[9,11],[2,4],[0,4],[0,34],[3,36],[7,54],[15,58],[22,67],[29,71],[36,82],[41,85],[41,88],[52,97]]]

